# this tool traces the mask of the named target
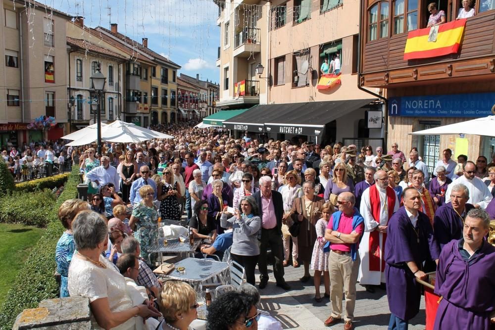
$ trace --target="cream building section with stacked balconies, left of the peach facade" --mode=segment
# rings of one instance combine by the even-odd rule
[[[268,84],[256,74],[267,66],[270,2],[265,0],[217,0],[220,47],[220,93],[216,106],[249,108],[268,102]]]

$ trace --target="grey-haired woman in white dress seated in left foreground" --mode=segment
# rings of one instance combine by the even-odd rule
[[[132,305],[124,277],[101,254],[107,249],[108,228],[98,213],[79,212],[72,222],[72,235],[77,253],[69,266],[69,294],[89,298],[92,329],[133,330],[135,316],[160,316],[145,304]]]

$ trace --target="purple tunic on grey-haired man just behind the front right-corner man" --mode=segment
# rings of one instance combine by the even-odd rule
[[[465,214],[474,208],[472,204],[468,203],[466,203],[465,207]],[[462,237],[463,226],[463,221],[454,211],[451,202],[439,207],[435,212],[435,217],[433,218],[433,229],[435,232],[435,238],[440,244],[440,249],[443,249],[444,245],[452,239],[460,239]]]

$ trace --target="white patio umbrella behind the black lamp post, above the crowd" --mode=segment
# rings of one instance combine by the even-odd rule
[[[119,119],[111,124],[101,127],[101,141],[109,142],[142,142],[151,139],[173,139],[173,136],[156,132],[144,127],[123,122]],[[78,140],[67,143],[67,145],[84,145],[97,140],[97,130],[92,130]]]

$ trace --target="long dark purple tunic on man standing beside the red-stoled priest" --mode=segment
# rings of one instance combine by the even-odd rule
[[[417,225],[418,235],[402,206],[389,221],[385,243],[389,309],[405,321],[418,314],[421,301],[421,284],[416,282],[406,262],[414,261],[421,267],[424,261],[438,259],[440,254],[428,216],[419,212]]]

